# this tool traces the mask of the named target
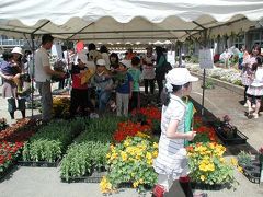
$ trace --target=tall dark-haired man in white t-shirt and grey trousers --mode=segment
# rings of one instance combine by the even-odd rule
[[[42,36],[42,46],[35,54],[35,81],[42,96],[42,119],[48,121],[52,118],[52,76],[64,78],[64,72],[52,70],[47,50],[52,49],[54,37],[50,34]]]

